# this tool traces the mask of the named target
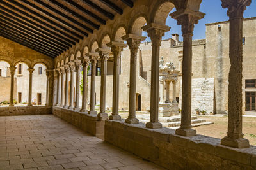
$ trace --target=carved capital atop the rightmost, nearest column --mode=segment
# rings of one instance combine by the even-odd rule
[[[227,15],[230,18],[243,17],[246,6],[252,3],[252,0],[221,0],[222,8],[228,8]]]

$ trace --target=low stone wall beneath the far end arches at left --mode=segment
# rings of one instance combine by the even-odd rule
[[[0,107],[0,116],[52,114],[51,106],[6,106]]]

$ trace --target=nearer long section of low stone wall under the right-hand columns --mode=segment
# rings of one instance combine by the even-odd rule
[[[229,148],[218,138],[177,136],[142,123],[106,120],[105,141],[167,169],[256,169],[256,146]]]

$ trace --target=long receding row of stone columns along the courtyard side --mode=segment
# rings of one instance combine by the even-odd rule
[[[243,38],[243,12],[250,1],[222,1],[223,8],[228,8],[228,17],[230,18],[230,73],[228,86],[228,132],[227,136],[221,139],[222,145],[232,146],[236,148],[249,147],[249,141],[243,138],[242,133],[242,38]],[[249,3],[248,3],[249,2]],[[182,27],[183,36],[183,62],[182,62],[182,113],[181,125],[176,129],[175,133],[181,136],[196,136],[196,130],[191,127],[191,68],[192,68],[192,36],[194,25],[198,20],[204,17],[204,13],[180,10],[171,13],[170,16],[177,20],[177,24]],[[141,27],[143,31],[148,33],[152,42],[152,65],[151,65],[151,89],[150,89],[150,122],[146,127],[151,129],[161,128],[162,124],[159,118],[159,50],[161,38],[164,32],[170,31],[170,27],[150,23]],[[127,41],[131,52],[130,60],[130,88],[129,88],[129,116],[125,120],[128,124],[138,123],[136,118],[136,57],[141,41],[145,39],[143,36],[135,34],[127,34],[122,37]],[[109,116],[110,120],[120,120],[118,114],[118,97],[119,97],[119,67],[120,54],[126,46],[124,43],[111,41],[107,44],[111,48],[114,55],[114,74],[113,74],[113,111]],[[74,60],[67,65],[56,69],[58,73],[58,91],[57,106],[63,106],[74,110],[86,112],[95,115],[95,66],[97,60],[101,60],[101,84],[100,84],[100,112],[97,115],[99,120],[105,120],[108,115],[105,111],[106,103],[106,61],[109,57],[109,48],[98,48],[96,52],[89,52],[86,56],[82,56],[80,60]],[[86,110],[86,81],[88,62],[92,63],[91,78],[91,94],[90,94],[90,110]],[[83,103],[79,108],[79,81],[80,74],[76,74],[76,104],[73,108],[73,95],[70,95],[70,103],[68,106],[68,73],[71,73],[71,86],[74,83],[74,67],[79,73],[81,64],[83,65]],[[66,74],[66,83],[64,85],[64,74]],[[65,88],[64,88],[65,86]],[[65,92],[63,91],[64,89]],[[70,94],[72,94],[72,88]]]

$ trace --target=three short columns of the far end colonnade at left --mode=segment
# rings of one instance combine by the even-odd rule
[[[10,91],[10,105],[14,106],[13,99],[14,99],[14,74],[16,71],[16,67],[10,67],[10,74],[11,74],[11,91]],[[35,71],[34,68],[28,68],[29,71],[29,91],[28,91],[28,106],[33,106],[32,104],[32,80],[33,80],[33,72]],[[52,106],[52,83],[54,80],[54,70],[53,69],[45,69],[46,72],[46,106]]]

